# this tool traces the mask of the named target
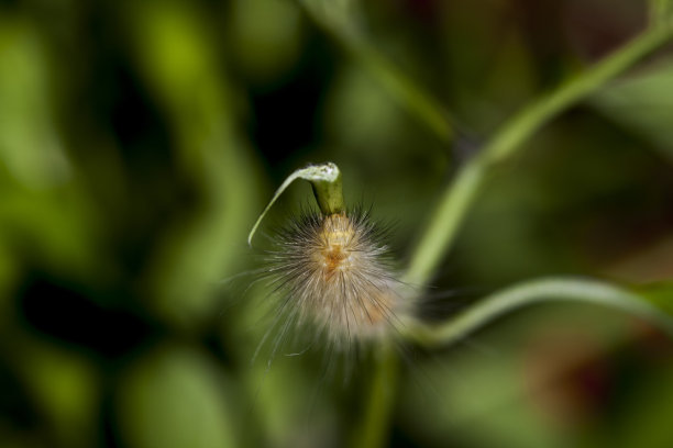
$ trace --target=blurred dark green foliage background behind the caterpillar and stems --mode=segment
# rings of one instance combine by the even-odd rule
[[[319,347],[251,362],[267,298],[246,235],[273,189],[333,160],[404,266],[486,136],[647,20],[641,0],[315,3],[335,30],[289,0],[0,3],[1,447],[344,446],[366,361],[346,384]],[[353,57],[353,30],[455,138]],[[668,48],[493,172],[419,313],[543,275],[671,306],[672,223]],[[622,313],[536,306],[405,350],[393,446],[673,446],[673,345]]]

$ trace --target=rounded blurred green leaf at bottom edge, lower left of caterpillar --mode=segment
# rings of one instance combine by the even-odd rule
[[[200,352],[165,347],[121,381],[117,411],[134,448],[240,447],[240,410],[224,372]],[[238,430],[236,430],[238,429]]]

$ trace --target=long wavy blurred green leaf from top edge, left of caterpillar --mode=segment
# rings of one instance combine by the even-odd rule
[[[144,2],[130,4],[126,16],[137,69],[169,119],[180,169],[197,187],[196,206],[166,223],[148,275],[159,313],[190,325],[214,311],[218,280],[241,269],[258,212],[256,172],[199,10]]]

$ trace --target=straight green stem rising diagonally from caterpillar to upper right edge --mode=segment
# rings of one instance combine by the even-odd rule
[[[651,26],[619,51],[550,94],[534,101],[506,122],[482,153],[472,159],[444,190],[428,227],[411,255],[405,280],[413,284],[424,284],[434,275],[437,267],[455,240],[457,229],[465,220],[486,172],[494,164],[519,150],[523,142],[554,116],[668,42],[672,30],[669,23]]]

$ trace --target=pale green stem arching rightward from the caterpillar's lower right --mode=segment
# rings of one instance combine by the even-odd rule
[[[427,347],[450,345],[512,310],[559,300],[622,310],[657,325],[673,337],[673,321],[640,296],[600,281],[572,278],[541,279],[510,287],[438,326],[419,324],[409,331],[408,336]]]

